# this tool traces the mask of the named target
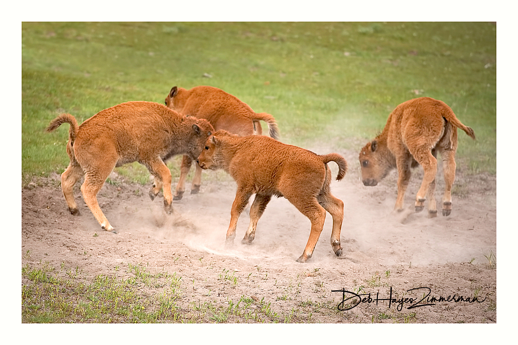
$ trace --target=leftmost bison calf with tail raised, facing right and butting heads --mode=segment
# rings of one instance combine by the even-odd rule
[[[193,159],[202,151],[214,128],[207,120],[185,117],[162,104],[127,102],[98,112],[80,126],[70,114],[61,114],[47,127],[54,131],[70,124],[67,153],[70,165],[61,175],[61,188],[68,209],[79,215],[74,185],[81,185],[84,202],[106,231],[117,233],[97,203],[97,193],[116,166],[139,162],[154,176],[151,200],[164,188],[164,209],[172,211],[171,172],[164,160],[175,154]]]

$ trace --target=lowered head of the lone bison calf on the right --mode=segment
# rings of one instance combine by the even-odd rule
[[[386,163],[382,148],[378,141],[372,140],[359,152],[359,164],[362,167],[362,181],[364,185],[377,185],[390,171]]]

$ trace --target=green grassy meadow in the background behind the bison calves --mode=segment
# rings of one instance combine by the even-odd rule
[[[493,23],[45,22],[22,23],[22,185],[68,164],[68,125],[44,131],[58,113],[81,123],[202,84],[273,114],[284,142],[333,149],[359,150],[405,100],[438,98],[477,135],[459,134],[458,167],[496,174]]]

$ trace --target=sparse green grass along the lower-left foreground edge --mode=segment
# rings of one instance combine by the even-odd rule
[[[29,253],[27,253],[29,255]],[[228,270],[224,270],[225,280]],[[220,275],[221,278],[221,275]],[[231,279],[232,282],[232,279]],[[176,272],[151,272],[142,264],[89,277],[79,267],[48,262],[22,267],[22,323],[293,323],[301,315],[274,312],[271,302],[241,296],[194,301]],[[336,308],[335,308],[336,309]],[[305,320],[304,320],[305,321]]]

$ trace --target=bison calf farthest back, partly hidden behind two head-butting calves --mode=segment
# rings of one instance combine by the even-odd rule
[[[237,97],[218,88],[198,86],[190,90],[174,87],[165,99],[165,105],[185,115],[192,115],[198,119],[210,121],[214,130],[226,130],[238,135],[262,134],[260,120],[269,127],[270,136],[279,137],[279,129],[274,117],[265,112],[256,113],[246,103]],[[192,160],[183,156],[180,168],[180,179],[176,185],[175,200],[182,198],[185,191],[185,178],[191,169]],[[191,194],[199,191],[202,183],[202,169],[196,166]]]

